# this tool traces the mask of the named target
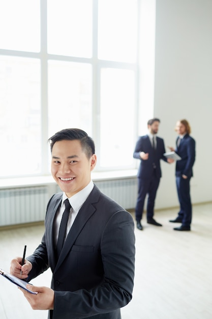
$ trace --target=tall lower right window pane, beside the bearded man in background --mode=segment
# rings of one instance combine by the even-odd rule
[[[134,72],[104,68],[101,71],[101,167],[133,164],[135,118]]]

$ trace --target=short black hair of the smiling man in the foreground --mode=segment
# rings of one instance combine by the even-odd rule
[[[58,141],[73,141],[79,140],[83,151],[85,152],[87,158],[89,159],[93,154],[95,154],[95,144],[92,138],[90,138],[85,131],[80,128],[65,128],[56,132],[52,137],[48,139],[50,144],[50,149],[55,142]]]

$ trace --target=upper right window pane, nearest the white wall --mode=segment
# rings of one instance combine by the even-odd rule
[[[136,61],[137,1],[99,0],[98,58]]]

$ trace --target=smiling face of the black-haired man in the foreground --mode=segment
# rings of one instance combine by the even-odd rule
[[[90,182],[90,173],[96,166],[97,158],[93,154],[88,159],[79,140],[55,142],[51,155],[51,174],[68,197]]]

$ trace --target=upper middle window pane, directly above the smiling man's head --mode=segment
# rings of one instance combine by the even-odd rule
[[[48,53],[92,56],[92,0],[48,1]]]

